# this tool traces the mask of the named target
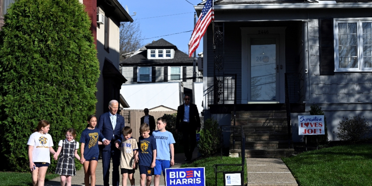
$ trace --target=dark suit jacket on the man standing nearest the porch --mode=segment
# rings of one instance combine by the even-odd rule
[[[182,130],[181,123],[184,121],[184,114],[185,114],[185,104],[178,106],[177,108],[177,118],[176,118],[176,129]],[[187,127],[192,127],[196,130],[197,127],[200,127],[200,117],[199,112],[197,111],[197,107],[195,104],[190,103],[190,110],[189,110],[189,120],[190,124]]]

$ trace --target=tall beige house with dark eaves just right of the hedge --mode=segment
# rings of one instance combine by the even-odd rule
[[[110,100],[121,100],[120,89],[126,79],[119,71],[120,22],[133,22],[118,0],[80,0],[92,20],[91,31],[100,62],[100,77],[97,83],[96,115],[108,111]],[[97,20],[98,19],[98,20]],[[128,107],[120,101],[122,107]]]

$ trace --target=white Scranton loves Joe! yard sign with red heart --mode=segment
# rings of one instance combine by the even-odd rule
[[[299,116],[299,135],[318,135],[324,132],[324,116]]]

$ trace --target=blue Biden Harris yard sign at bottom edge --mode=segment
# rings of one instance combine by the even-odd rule
[[[167,186],[205,186],[204,167],[165,170]]]

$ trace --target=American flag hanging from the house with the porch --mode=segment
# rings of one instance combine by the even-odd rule
[[[207,0],[201,10],[195,28],[192,31],[190,41],[188,42],[188,57],[191,57],[192,53],[199,46],[200,39],[204,36],[204,33],[212,20],[214,20],[213,2],[212,0]]]

